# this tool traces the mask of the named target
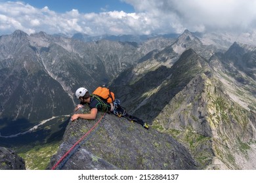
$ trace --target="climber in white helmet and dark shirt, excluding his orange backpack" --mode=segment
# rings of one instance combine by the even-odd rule
[[[98,97],[98,95],[90,95],[88,90],[85,88],[78,88],[75,92],[75,97],[80,100],[80,104],[75,107],[75,111],[83,107],[83,105],[88,104],[91,108],[91,112],[89,114],[74,114],[71,117],[72,122],[77,120],[77,118],[95,120],[98,110],[101,110],[104,112],[111,112],[112,114],[116,114],[119,117],[137,122],[138,124],[141,124],[145,129],[148,129],[148,124],[135,116],[127,114],[125,109],[119,105],[118,99],[115,99],[112,103],[108,103],[105,99],[102,99],[102,97]]]

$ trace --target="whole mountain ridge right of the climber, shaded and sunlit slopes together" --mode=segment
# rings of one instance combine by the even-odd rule
[[[255,48],[234,42],[206,59],[200,51],[205,46],[185,31],[172,46],[119,75],[112,87],[122,88],[117,95],[127,110],[184,144],[200,169],[254,169]],[[182,49],[179,56],[175,50]],[[157,54],[178,59],[166,67],[168,59]],[[157,67],[140,69],[156,61]]]

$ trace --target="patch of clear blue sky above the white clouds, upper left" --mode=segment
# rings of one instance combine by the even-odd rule
[[[66,12],[77,9],[79,12],[102,12],[102,11],[121,11],[134,12],[133,6],[119,0],[22,0],[33,7],[49,9],[56,12]]]

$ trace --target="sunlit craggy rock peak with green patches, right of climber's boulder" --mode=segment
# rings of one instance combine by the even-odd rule
[[[255,114],[232,101],[216,78],[193,78],[154,120],[184,144],[200,169],[251,169]]]

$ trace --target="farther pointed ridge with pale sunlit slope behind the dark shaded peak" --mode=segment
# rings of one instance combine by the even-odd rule
[[[206,59],[211,58],[216,52],[223,53],[226,51],[214,45],[203,44],[196,34],[185,30],[175,41],[170,41],[169,45],[148,52],[148,54],[140,58],[139,64],[135,65],[133,71],[128,71],[129,76],[122,74],[121,77],[131,78],[129,82],[133,83],[148,71],[154,71],[161,66],[172,67],[181,54],[190,48]],[[117,80],[119,79],[120,77]]]

